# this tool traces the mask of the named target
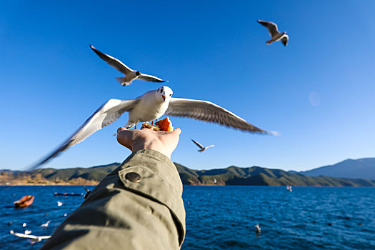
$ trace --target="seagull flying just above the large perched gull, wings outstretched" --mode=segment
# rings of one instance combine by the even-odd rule
[[[114,58],[113,56],[109,56],[107,54],[102,53],[101,51],[95,49],[94,46],[90,45],[91,49],[104,61],[107,62],[107,64],[111,65],[121,73],[124,73],[124,77],[116,77],[116,81],[118,81],[122,86],[130,85],[135,79],[138,80],[144,80],[144,81],[152,81],[152,82],[166,82],[163,79],[160,79],[156,76],[151,76],[147,74],[142,74],[139,71],[130,69],[128,66],[126,66],[122,61],[119,59]]]

